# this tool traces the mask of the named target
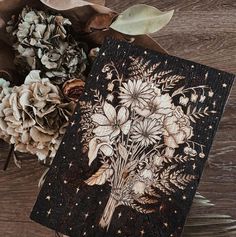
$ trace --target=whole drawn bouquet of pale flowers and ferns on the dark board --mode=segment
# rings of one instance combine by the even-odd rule
[[[81,115],[88,164],[95,159],[101,163],[85,183],[108,182],[111,187],[99,223],[107,230],[118,206],[143,214],[155,212],[162,195],[184,190],[198,178],[179,164],[205,157],[204,145],[191,140],[192,125],[215,113],[194,106],[206,94],[213,96],[208,86],[178,87],[185,77],[157,70],[160,63],[141,57],[130,60],[128,77],[118,72],[115,63],[104,65],[108,94],[95,89],[93,102],[81,102],[81,110],[90,113]],[[176,96],[178,104],[173,101]]]

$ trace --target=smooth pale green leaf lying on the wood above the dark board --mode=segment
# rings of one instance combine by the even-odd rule
[[[110,25],[110,28],[127,35],[154,33],[169,23],[174,10],[161,12],[155,7],[145,4],[134,5]]]

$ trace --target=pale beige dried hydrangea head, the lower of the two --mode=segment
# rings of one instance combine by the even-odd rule
[[[13,87],[3,98],[1,129],[9,134],[16,150],[35,154],[40,160],[53,157],[74,106],[74,102],[63,101],[59,88],[34,70],[23,85]]]

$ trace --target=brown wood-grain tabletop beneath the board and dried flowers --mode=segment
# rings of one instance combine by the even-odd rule
[[[122,11],[145,3],[160,10],[175,9],[170,24],[154,38],[172,55],[236,74],[235,0],[107,0],[107,6]],[[1,144],[0,166],[7,154]],[[216,204],[212,213],[236,218],[236,84],[211,150],[199,191]],[[0,236],[52,237],[55,233],[29,220],[38,193],[43,168],[25,161],[23,169],[11,162],[0,171]],[[209,210],[203,210],[203,212]]]

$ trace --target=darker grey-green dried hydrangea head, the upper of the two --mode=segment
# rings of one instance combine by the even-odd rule
[[[15,38],[16,63],[40,69],[53,83],[61,84],[86,69],[87,56],[69,33],[71,22],[59,14],[24,8],[12,17],[7,31]]]

